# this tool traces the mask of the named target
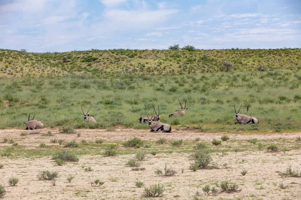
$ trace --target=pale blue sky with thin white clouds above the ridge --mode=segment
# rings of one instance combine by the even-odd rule
[[[0,0],[0,48],[301,48],[301,0]]]

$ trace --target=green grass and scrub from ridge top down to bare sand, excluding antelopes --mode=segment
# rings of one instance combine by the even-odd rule
[[[155,103],[160,105],[161,121],[172,124],[172,128],[193,127],[202,132],[300,130],[300,49],[65,53],[0,49],[0,53],[4,55],[0,61],[0,108],[7,116],[2,117],[0,128],[25,128],[23,122],[31,112],[44,127],[60,127],[67,133],[75,128],[115,126],[149,129],[138,118],[145,116],[144,108],[151,113],[151,103]],[[208,58],[203,59],[204,54]],[[91,66],[81,61],[103,56],[111,61],[89,62]],[[122,56],[128,58],[122,60]],[[144,58],[148,56],[154,58]],[[71,61],[58,63],[64,59]],[[128,59],[131,61],[126,62]],[[29,62],[21,71],[24,60]],[[220,72],[224,60],[233,63],[231,72]],[[162,64],[157,66],[160,61]],[[258,65],[267,70],[258,71]],[[13,75],[8,74],[9,70]],[[185,116],[169,118],[181,108],[178,98],[187,99],[189,109]],[[237,106],[243,103],[241,113],[255,116],[259,124],[234,124],[234,102]],[[96,123],[86,123],[82,117],[80,107],[90,104],[89,114]]]

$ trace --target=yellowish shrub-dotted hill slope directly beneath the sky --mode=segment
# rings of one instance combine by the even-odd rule
[[[255,71],[260,66],[267,70],[295,70],[301,69],[301,49],[92,49],[53,53],[0,49],[0,76],[191,74],[220,71],[224,61],[233,64],[232,71]]]

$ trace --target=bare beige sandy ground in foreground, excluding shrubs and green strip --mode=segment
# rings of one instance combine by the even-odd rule
[[[42,136],[42,133],[46,133],[48,130],[55,135]],[[0,141],[3,141],[5,137],[13,138],[20,145],[35,149],[41,142],[50,144],[51,138],[76,139],[78,141],[82,139],[92,141],[102,138],[114,142],[131,139],[134,136],[152,141],[161,137],[168,140],[194,140],[199,137],[211,142],[213,138],[220,138],[224,134],[201,133],[193,130],[160,133],[149,132],[146,129],[116,129],[114,131],[77,129],[76,131],[81,133],[81,136],[77,137],[76,134],[58,134],[58,129],[42,129],[40,134],[20,136],[20,133],[24,131],[18,129],[0,130]],[[30,131],[27,130],[26,132],[29,133]],[[296,142],[295,138],[301,134],[249,134],[240,132],[237,134],[227,133],[227,135],[237,141],[250,138],[257,138],[258,140],[284,138],[290,143]],[[0,143],[2,149],[11,145]],[[145,198],[142,195],[144,186],[147,187],[155,183],[162,183],[165,186],[164,195],[156,199],[193,199],[197,191],[201,193],[199,198],[203,199],[301,199],[301,177],[280,177],[278,175],[279,171],[285,171],[289,165],[294,170],[301,170],[301,141],[298,145],[300,148],[286,151],[286,153],[282,151],[270,153],[264,150],[230,151],[224,156],[214,153],[212,154],[213,161],[217,163],[219,168],[199,169],[196,172],[189,169],[193,160],[189,153],[184,152],[148,154],[140,166],[145,167],[145,170],[139,171],[133,171],[131,167],[125,165],[129,158],[134,157],[134,154],[117,156],[87,154],[80,156],[78,162],[68,162],[62,166],[58,166],[51,159],[51,156],[31,156],[29,158],[2,156],[0,157],[0,164],[4,164],[4,168],[0,169],[0,184],[4,185],[7,190],[5,199],[143,199]],[[229,167],[222,167],[224,163],[227,163]],[[165,164],[175,169],[177,174],[169,177],[157,175],[155,170],[163,169]],[[82,165],[90,166],[93,170],[85,171]],[[55,186],[51,180],[38,180],[37,174],[41,170],[59,172]],[[247,170],[248,173],[242,176],[240,173],[242,170]],[[75,176],[70,183],[66,179],[68,175]],[[8,179],[13,176],[20,179],[17,186],[9,186]],[[100,179],[105,183],[102,186],[93,187],[91,182],[94,179]],[[144,186],[136,187],[136,180],[142,181]],[[223,180],[237,183],[242,190],[209,196],[203,193],[202,186],[205,184],[214,186],[214,182]],[[288,185],[288,187],[281,189],[278,186],[280,183]]]

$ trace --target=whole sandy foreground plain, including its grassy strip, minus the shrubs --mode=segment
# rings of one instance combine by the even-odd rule
[[[220,145],[212,144],[213,139],[220,139],[223,135],[229,139]],[[0,164],[4,166],[0,169],[0,182],[7,190],[6,199],[143,199],[146,198],[144,187],[158,183],[165,190],[163,196],[157,199],[300,199],[300,177],[279,175],[289,166],[300,171],[300,135],[299,132],[210,133],[177,128],[171,133],[116,128],[109,131],[76,129],[76,132],[68,134],[61,133],[58,128],[3,129],[0,130]],[[139,147],[121,144],[134,137],[143,140],[143,144]],[[4,143],[4,140],[7,141],[5,138],[8,141],[12,139],[12,142]],[[158,143],[160,138],[165,138],[166,142]],[[54,139],[64,141],[60,145],[53,143]],[[172,145],[173,141],[181,139],[182,144]],[[255,139],[256,143],[251,143],[250,139]],[[71,140],[79,146],[64,147]],[[96,143],[96,140],[102,142]],[[214,167],[193,171],[190,169],[194,161],[191,155],[196,145],[204,142],[210,149]],[[14,146],[14,143],[18,144]],[[46,145],[41,146],[41,143]],[[106,146],[112,143],[117,144],[117,154],[105,156]],[[267,150],[272,144],[277,146],[277,151]],[[3,153],[11,146],[14,146],[11,155],[5,156]],[[62,150],[75,153],[79,160],[58,165],[52,157]],[[140,166],[127,166],[127,161],[137,153],[145,153]],[[172,176],[155,173],[157,169],[164,169],[165,165],[177,173]],[[87,170],[88,167],[91,170]],[[142,170],[133,170],[135,168]],[[37,175],[43,170],[59,173],[55,185],[51,180],[38,179]],[[241,174],[243,170],[247,171],[245,175]],[[70,175],[74,179],[68,182]],[[9,186],[10,177],[18,177],[19,183]],[[100,179],[104,184],[93,187],[91,182],[95,179]],[[144,185],[135,186],[137,180]],[[237,184],[241,191],[205,195],[202,187],[206,184],[213,187],[222,181]],[[287,187],[280,188],[281,183]]]

